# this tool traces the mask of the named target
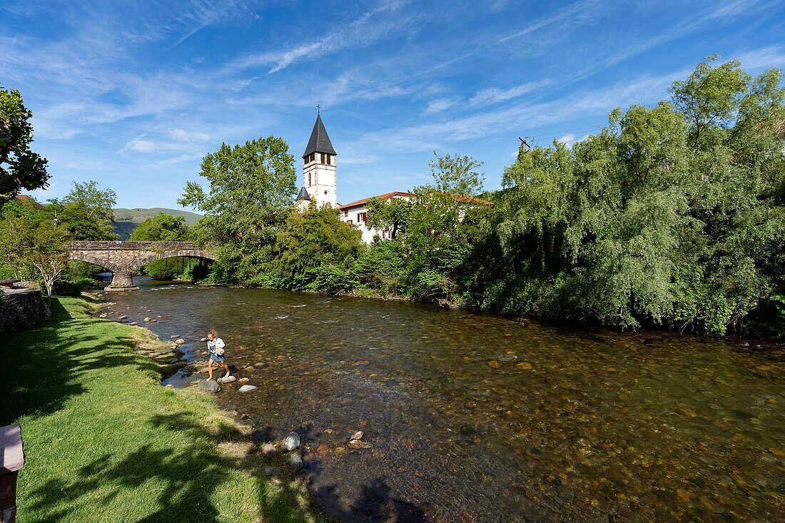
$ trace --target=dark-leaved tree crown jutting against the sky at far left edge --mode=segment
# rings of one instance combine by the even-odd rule
[[[30,150],[32,115],[18,90],[0,86],[0,207],[22,189],[49,185],[46,159]]]

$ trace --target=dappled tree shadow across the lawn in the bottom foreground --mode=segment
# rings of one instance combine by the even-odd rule
[[[79,469],[79,478],[71,483],[52,481],[31,493],[35,509],[70,500],[69,506],[53,514],[53,519],[77,508],[100,510],[121,492],[128,489],[155,489],[155,506],[144,506],[144,515],[113,514],[122,521],[136,523],[199,521],[212,523],[227,521],[226,510],[219,510],[211,498],[220,498],[225,484],[231,481],[227,470],[239,469],[259,482],[261,521],[309,521],[305,507],[296,503],[297,492],[281,485],[271,488],[264,474],[266,459],[254,452],[231,455],[221,452],[221,444],[247,445],[249,437],[228,424],[210,430],[192,419],[192,414],[181,412],[155,415],[149,423],[155,430],[169,431],[172,437],[183,438],[191,444],[174,448],[154,448],[144,444],[117,461],[111,453],[104,454]],[[254,481],[250,479],[249,481]],[[104,492],[97,499],[96,492]],[[225,509],[226,507],[224,507]]]

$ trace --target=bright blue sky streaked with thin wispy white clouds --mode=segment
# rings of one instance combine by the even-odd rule
[[[0,84],[34,112],[53,175],[119,207],[177,207],[226,141],[283,137],[297,159],[316,104],[338,201],[421,185],[432,150],[498,188],[519,136],[596,132],[655,104],[703,57],[785,68],[785,2],[0,2]]]

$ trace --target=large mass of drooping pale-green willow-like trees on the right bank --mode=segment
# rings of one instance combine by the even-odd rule
[[[783,288],[780,75],[714,60],[674,83],[674,104],[519,154],[476,249],[474,302],[721,334]]]

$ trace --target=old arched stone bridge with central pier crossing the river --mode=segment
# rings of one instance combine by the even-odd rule
[[[111,272],[107,290],[132,290],[133,272],[164,258],[202,258],[214,261],[207,251],[199,251],[193,242],[71,242],[68,258],[98,265]]]

